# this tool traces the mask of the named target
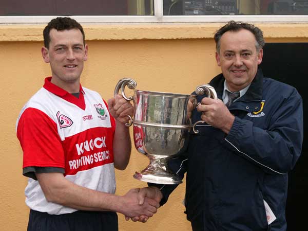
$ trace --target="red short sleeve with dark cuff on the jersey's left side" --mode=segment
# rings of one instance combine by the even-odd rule
[[[56,123],[44,112],[27,108],[17,122],[23,149],[23,174],[36,180],[35,172],[64,172],[65,153]],[[40,169],[40,171],[36,171]]]

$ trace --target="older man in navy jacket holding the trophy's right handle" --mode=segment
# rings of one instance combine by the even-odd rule
[[[192,123],[204,123],[198,134],[191,132],[187,151],[169,161],[182,177],[187,172],[187,219],[194,231],[285,231],[287,173],[303,141],[302,98],[258,69],[264,46],[259,28],[230,21],[214,39],[222,74],[209,84],[218,99],[197,97],[201,105]],[[237,98],[228,103],[232,93]],[[161,205],[177,186],[149,185],[140,198],[159,188]]]

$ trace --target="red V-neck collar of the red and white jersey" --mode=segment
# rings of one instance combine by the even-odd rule
[[[79,98],[76,98],[75,96],[73,96],[72,94],[68,93],[67,91],[65,91],[64,89],[62,89],[61,87],[51,83],[51,78],[52,77],[47,77],[45,78],[45,83],[44,83],[44,88],[51,92],[52,94],[61,97],[62,99],[75,104],[76,106],[79,106],[79,108],[81,108],[82,110],[85,110],[86,108],[86,104],[85,104],[85,99],[84,99],[84,95],[85,92],[80,84],[79,86],[79,91],[82,93],[79,95]]]

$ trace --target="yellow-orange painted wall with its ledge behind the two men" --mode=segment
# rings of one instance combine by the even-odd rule
[[[24,197],[27,179],[22,175],[22,150],[15,135],[15,122],[25,102],[50,75],[49,64],[43,62],[40,52],[43,27],[0,26],[1,231],[24,231],[27,226],[29,209]],[[220,72],[212,39],[218,27],[219,24],[87,25],[89,58],[82,84],[105,99],[112,96],[115,84],[124,77],[135,79],[139,90],[190,94],[197,85],[208,83]],[[267,42],[308,42],[308,25],[260,27],[266,31]],[[127,169],[116,172],[116,193],[146,186],[145,182],[133,179],[132,174],[147,165],[148,159],[133,148]],[[146,224],[126,222],[119,214],[119,230],[191,230],[183,213],[184,193],[185,181]]]

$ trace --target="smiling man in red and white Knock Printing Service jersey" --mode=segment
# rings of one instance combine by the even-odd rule
[[[157,211],[160,193],[139,205],[138,189],[115,192],[114,167],[128,164],[125,126],[132,105],[121,95],[107,103],[80,84],[88,46],[82,26],[57,17],[44,29],[42,56],[51,77],[25,104],[16,122],[30,207],[28,231],[118,230],[126,217]]]

